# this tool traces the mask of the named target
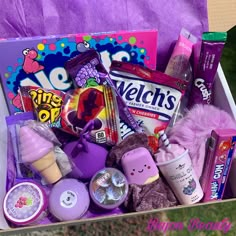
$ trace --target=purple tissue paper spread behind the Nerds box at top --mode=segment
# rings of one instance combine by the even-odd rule
[[[157,69],[182,27],[208,31],[207,0],[1,0],[0,37],[158,29]]]

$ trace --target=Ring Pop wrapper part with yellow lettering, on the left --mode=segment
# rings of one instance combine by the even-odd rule
[[[65,93],[34,86],[19,91],[24,111],[35,111],[38,121],[61,128],[61,110]]]

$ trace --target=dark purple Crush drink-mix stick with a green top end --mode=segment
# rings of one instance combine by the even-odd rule
[[[212,88],[226,37],[226,32],[203,33],[200,60],[192,86],[189,107],[195,104],[212,103]]]

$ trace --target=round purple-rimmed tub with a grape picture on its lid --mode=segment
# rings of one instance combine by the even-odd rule
[[[46,217],[47,199],[45,191],[32,182],[13,186],[3,202],[5,217],[16,225],[38,224]]]

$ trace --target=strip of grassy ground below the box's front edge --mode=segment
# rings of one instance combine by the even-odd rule
[[[208,205],[195,205],[192,207],[185,208],[170,208],[167,211],[162,212],[153,212],[139,214],[135,216],[119,217],[113,219],[104,219],[94,222],[87,223],[77,223],[73,226],[67,227],[58,227],[57,229],[41,230],[31,233],[25,232],[24,234],[19,234],[19,236],[38,236],[38,235],[47,235],[47,236],[159,236],[165,235],[170,236],[220,236],[220,235],[236,235],[236,201],[226,201],[219,202],[216,204]],[[158,224],[152,224],[150,227],[150,221],[156,219],[159,221]],[[222,222],[224,219],[228,219],[228,224],[226,226],[230,228],[223,227],[222,230],[197,230],[194,228],[190,230],[189,225],[191,220],[199,219],[199,221],[204,223],[214,224],[217,222]],[[153,222],[153,221],[152,221]],[[161,222],[161,223],[160,223]],[[179,222],[179,225],[183,225],[181,230],[167,230],[164,228],[164,224],[169,222]],[[162,224],[162,227],[160,226]],[[149,226],[149,227],[148,227]],[[149,229],[149,230],[148,230]],[[166,230],[165,230],[166,229]],[[223,229],[227,231],[225,234]],[[17,235],[17,234],[14,234]]]

